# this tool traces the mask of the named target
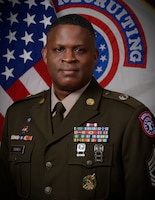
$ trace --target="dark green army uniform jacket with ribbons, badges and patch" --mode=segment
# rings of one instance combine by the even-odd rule
[[[15,187],[10,199],[155,199],[155,119],[148,108],[93,79],[53,134],[50,104],[48,90],[7,111],[5,197]]]

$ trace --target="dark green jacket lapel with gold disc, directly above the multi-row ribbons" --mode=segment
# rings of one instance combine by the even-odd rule
[[[74,127],[85,124],[98,115],[98,106],[102,91],[101,86],[93,79],[86,91],[73,106],[70,113],[63,120],[62,124],[58,127],[57,132],[52,135],[52,140],[48,144],[73,132]]]

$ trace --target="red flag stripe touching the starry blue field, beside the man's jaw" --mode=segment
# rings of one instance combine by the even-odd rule
[[[51,86],[52,81],[48,74],[47,66],[45,65],[43,59],[36,63],[34,68],[38,72],[38,74],[40,74],[42,79],[47,83],[47,85]]]

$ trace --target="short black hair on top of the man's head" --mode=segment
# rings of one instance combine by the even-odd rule
[[[49,27],[48,32],[50,32],[54,27],[58,25],[65,24],[77,25],[86,28],[90,31],[93,37],[95,37],[95,31],[92,24],[86,18],[78,14],[68,14],[57,18]]]

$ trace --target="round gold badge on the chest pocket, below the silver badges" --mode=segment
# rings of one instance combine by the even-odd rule
[[[92,175],[87,175],[82,180],[82,187],[85,190],[94,190],[96,187],[96,177],[95,173]]]

